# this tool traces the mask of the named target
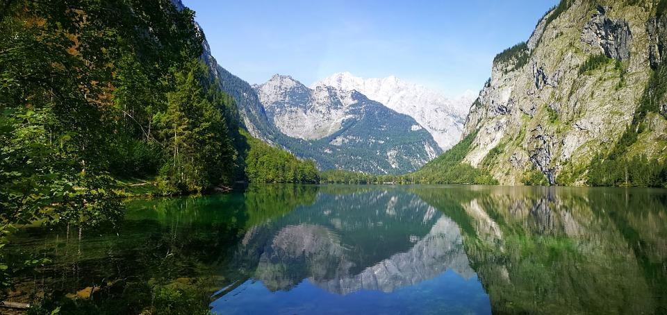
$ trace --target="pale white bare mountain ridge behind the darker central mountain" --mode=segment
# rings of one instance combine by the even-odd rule
[[[349,72],[334,74],[312,85],[330,86],[339,90],[356,90],[388,108],[413,117],[434,137],[438,146],[447,150],[461,140],[463,123],[475,95],[463,94],[448,99],[443,94],[421,85],[404,82],[395,76],[359,78]]]

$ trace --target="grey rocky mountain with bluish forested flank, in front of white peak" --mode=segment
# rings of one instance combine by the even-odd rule
[[[256,108],[242,110],[249,130],[322,169],[405,173],[442,152],[414,119],[356,91],[313,90],[279,75],[254,86],[256,96],[238,80],[223,80],[222,86],[241,107]]]

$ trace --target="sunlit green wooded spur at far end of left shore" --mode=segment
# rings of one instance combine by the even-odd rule
[[[302,184],[320,182],[320,173],[313,160],[299,160],[281,148],[270,146],[245,132],[242,134],[249,144],[249,149],[245,153],[245,173],[249,182]]]

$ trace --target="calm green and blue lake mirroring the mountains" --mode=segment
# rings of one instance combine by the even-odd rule
[[[116,230],[27,229],[10,249],[53,260],[24,294],[123,304],[164,282],[215,314],[667,314],[659,189],[261,185],[131,201]]]

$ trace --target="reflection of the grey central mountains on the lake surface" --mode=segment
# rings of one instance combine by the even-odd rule
[[[237,255],[257,257],[253,277],[272,291],[304,279],[332,293],[391,292],[452,269],[475,274],[459,227],[404,191],[320,194],[243,237]]]

